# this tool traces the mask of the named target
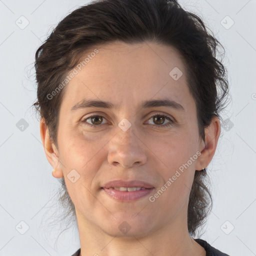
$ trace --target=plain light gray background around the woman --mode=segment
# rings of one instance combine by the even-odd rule
[[[54,220],[59,207],[59,182],[51,175],[37,116],[29,107],[36,98],[36,49],[64,16],[87,2],[0,0],[0,255],[69,256],[80,246],[77,229],[69,228],[54,247],[64,226],[46,220]],[[179,2],[202,16],[225,47],[232,96],[224,119],[233,127],[222,129],[208,166],[213,208],[201,238],[230,256],[256,255],[256,1]],[[228,29],[227,15],[234,21]],[[29,24],[21,29],[26,19]],[[28,123],[23,131],[16,126],[21,118]],[[20,221],[29,226],[24,234],[26,224]]]

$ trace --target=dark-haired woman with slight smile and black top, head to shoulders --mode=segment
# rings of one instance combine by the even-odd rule
[[[218,45],[175,0],[97,0],[37,49],[34,105],[77,219],[73,256],[227,255],[192,238],[228,93]]]

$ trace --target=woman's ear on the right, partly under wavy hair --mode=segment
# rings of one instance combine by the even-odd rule
[[[204,129],[205,143],[202,141],[200,145],[201,154],[197,158],[195,165],[196,170],[206,168],[217,147],[217,142],[220,134],[220,123],[217,116],[213,116],[210,125]]]

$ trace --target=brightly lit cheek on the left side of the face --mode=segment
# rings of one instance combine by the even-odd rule
[[[75,206],[84,205],[84,201],[92,206],[95,198],[91,196],[91,184],[102,164],[106,142],[88,141],[75,134],[71,138],[60,138],[60,141],[62,171],[68,194]]]

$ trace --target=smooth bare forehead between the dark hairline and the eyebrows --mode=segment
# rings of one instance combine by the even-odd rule
[[[87,50],[80,63],[85,59],[67,85],[63,101],[68,95],[70,104],[84,97],[120,104],[154,96],[181,103],[190,96],[184,64],[171,46],[111,42]]]

